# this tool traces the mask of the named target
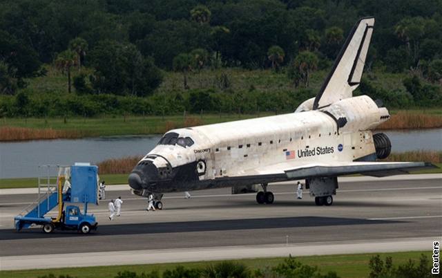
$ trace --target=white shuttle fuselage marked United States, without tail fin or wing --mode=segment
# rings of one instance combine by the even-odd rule
[[[192,183],[198,180],[236,176],[289,160],[303,164],[351,162],[374,154],[369,129],[383,122],[381,116],[385,111],[378,109],[367,96],[361,96],[341,100],[321,111],[173,129],[166,134],[189,137],[194,144],[188,147],[159,144],[140,163],[152,163],[160,177],[171,183],[186,181],[180,189],[173,188],[184,191],[192,189]],[[338,128],[336,118],[330,114],[345,118],[345,125]],[[184,165],[188,165],[186,171],[195,171],[195,180],[166,175]]]

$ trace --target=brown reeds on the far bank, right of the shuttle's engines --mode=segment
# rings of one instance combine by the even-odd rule
[[[399,112],[377,129],[429,129],[442,127],[442,116],[424,113]]]

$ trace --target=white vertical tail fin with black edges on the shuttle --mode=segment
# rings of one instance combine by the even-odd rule
[[[340,49],[332,71],[316,95],[313,109],[352,97],[353,91],[361,82],[373,26],[374,17],[365,17],[356,23]]]

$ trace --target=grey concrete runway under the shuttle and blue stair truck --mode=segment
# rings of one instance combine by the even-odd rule
[[[441,174],[374,180],[341,178],[331,207],[317,207],[307,191],[302,200],[296,200],[295,186],[287,183],[269,186],[275,194],[273,205],[258,205],[255,194],[231,195],[230,189],[211,189],[191,192],[189,200],[183,194],[168,194],[163,198],[164,210],[156,212],[146,212],[146,200],[128,190],[112,190],[106,197],[122,196],[122,216],[109,221],[107,202],[92,206],[90,212],[97,216],[99,228],[86,236],[44,234],[40,228],[15,232],[13,217],[36,195],[3,192],[0,269],[193,261],[233,258],[234,254],[269,257],[430,250],[432,240],[441,240]],[[198,252],[191,256],[195,248]],[[108,259],[91,262],[84,259],[85,252],[101,252]],[[157,255],[148,257],[150,253]],[[41,260],[57,257],[54,254],[77,259],[41,265]]]

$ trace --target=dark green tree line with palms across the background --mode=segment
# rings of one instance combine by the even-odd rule
[[[45,64],[79,94],[145,97],[165,71],[187,90],[189,74],[222,67],[271,68],[308,87],[366,15],[376,17],[366,70],[406,72],[441,94],[440,0],[1,1],[0,94],[46,75]]]

